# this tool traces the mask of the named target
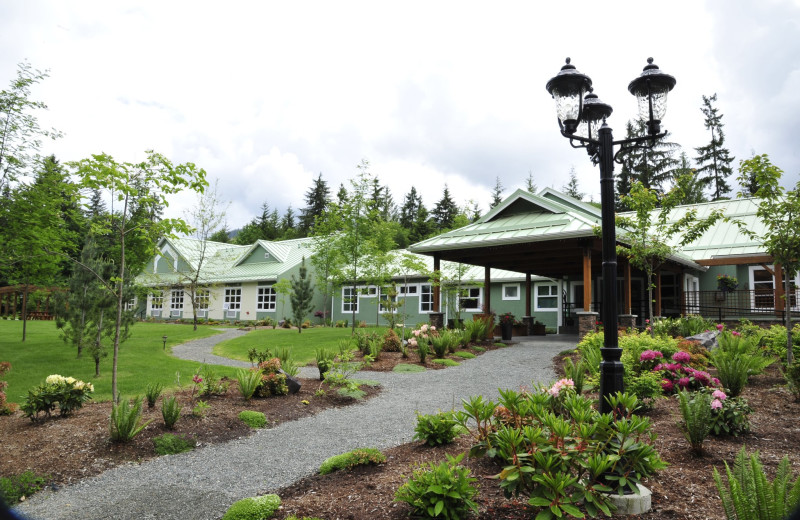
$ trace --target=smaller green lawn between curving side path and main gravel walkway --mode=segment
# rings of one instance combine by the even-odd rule
[[[367,327],[356,329],[357,332],[378,332],[383,335],[386,327]],[[228,341],[218,343],[214,354],[231,359],[248,361],[247,352],[255,348],[259,352],[270,349],[273,353],[278,348],[288,348],[292,358],[300,365],[307,365],[315,360],[314,350],[325,347],[334,352],[339,350],[339,340],[350,338],[350,329],[333,327],[314,327],[303,329],[259,329]]]

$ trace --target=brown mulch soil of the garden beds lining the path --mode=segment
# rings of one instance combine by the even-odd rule
[[[484,347],[495,348],[490,345]],[[399,354],[387,353],[372,369],[390,370],[397,363],[415,361],[418,362],[413,355],[411,359],[403,359]],[[426,366],[438,367],[430,360]],[[560,366],[558,359],[554,360],[554,366]],[[195,436],[199,446],[205,447],[249,435],[251,430],[237,417],[242,410],[262,411],[270,423],[275,424],[353,402],[331,390],[323,397],[315,396],[319,381],[308,379],[302,382],[302,390],[294,396],[254,399],[249,403],[242,400],[234,382],[225,396],[208,399],[211,409],[206,418],[194,418],[185,410],[175,433]],[[743,444],[746,444],[748,451],[758,450],[761,453],[762,463],[770,478],[784,455],[789,456],[794,473],[800,472],[800,422],[797,420],[800,403],[795,402],[782,385],[783,378],[775,366],[752,378],[743,393],[754,409],[750,415],[752,432],[738,438],[709,437],[702,456],[691,454],[687,441],[677,427],[680,413],[676,400],[660,400],[647,415],[658,434],[656,448],[669,467],[645,482],[653,492],[653,508],[638,518],[724,518],[712,479],[712,468],[722,470],[724,461],[732,463]],[[379,391],[365,390],[368,397]],[[178,395],[188,402],[188,390]],[[309,404],[303,404],[303,400]],[[97,403],[85,406],[71,417],[54,418],[41,424],[31,423],[19,412],[11,417],[0,417],[0,476],[32,470],[37,474],[49,475],[51,482],[58,486],[95,475],[118,464],[139,462],[155,456],[152,439],[167,431],[158,407],[145,411],[145,418],[154,421],[129,445],[109,442],[109,414],[109,403]],[[467,437],[440,448],[428,448],[420,442],[412,442],[386,450],[385,464],[305,478],[278,491],[283,506],[276,518],[282,519],[292,514],[326,520],[407,518],[409,507],[394,502],[393,498],[395,490],[406,481],[413,469],[424,462],[444,460],[445,453],[463,453],[469,447],[470,440]],[[535,517],[535,512],[525,505],[524,500],[503,497],[497,480],[492,478],[500,471],[493,461],[465,458],[463,464],[478,478],[478,518],[516,520]]]

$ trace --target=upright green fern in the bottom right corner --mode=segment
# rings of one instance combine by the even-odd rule
[[[727,486],[717,468],[713,475],[728,520],[783,520],[800,505],[800,477],[792,482],[788,457],[781,459],[775,478],[769,482],[758,452],[748,457],[742,446],[732,471],[725,463],[725,473]]]

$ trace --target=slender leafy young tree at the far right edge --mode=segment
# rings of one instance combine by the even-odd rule
[[[739,182],[744,184],[755,178],[758,189],[755,195],[758,203],[758,216],[767,227],[764,236],[753,238],[761,240],[764,249],[775,263],[784,269],[784,298],[786,306],[786,362],[789,366],[794,358],[792,345],[791,279],[800,270],[800,182],[794,189],[787,190],[780,185],[783,170],[772,164],[767,154],[754,155],[739,163]]]

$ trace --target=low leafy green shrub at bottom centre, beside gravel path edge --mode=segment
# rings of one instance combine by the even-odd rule
[[[395,492],[395,500],[406,502],[414,514],[424,518],[457,520],[477,512],[478,505],[472,500],[478,493],[474,486],[477,479],[469,476],[469,469],[459,466],[463,458],[463,453],[457,457],[448,454],[439,465],[430,462],[414,470]]]

